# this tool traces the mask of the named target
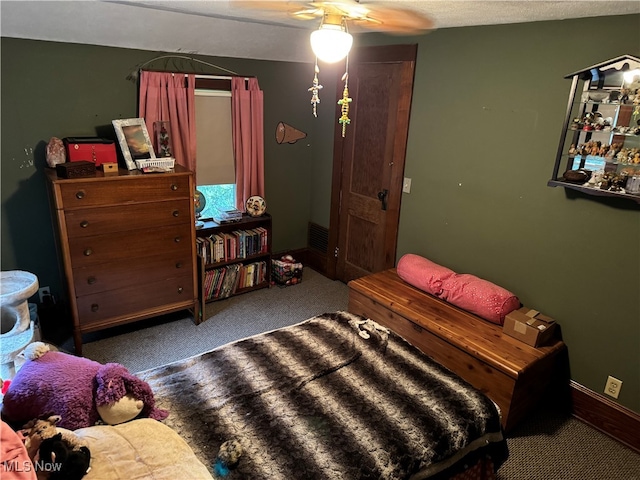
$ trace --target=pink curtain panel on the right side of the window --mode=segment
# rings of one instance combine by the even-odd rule
[[[252,195],[264,197],[263,92],[258,80],[231,79],[231,125],[236,160],[236,208]]]

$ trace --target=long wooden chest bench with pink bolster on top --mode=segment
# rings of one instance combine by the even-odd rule
[[[505,431],[541,401],[566,356],[561,340],[530,347],[409,285],[395,269],[349,282],[349,312],[390,328],[483,391],[500,407]]]

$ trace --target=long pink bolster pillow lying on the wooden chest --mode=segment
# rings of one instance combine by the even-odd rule
[[[502,325],[508,313],[520,308],[520,300],[510,291],[468,273],[455,273],[419,255],[404,255],[397,271],[414,287],[491,323]]]

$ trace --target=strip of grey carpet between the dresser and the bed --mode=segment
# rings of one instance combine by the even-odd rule
[[[314,315],[346,310],[347,297],[344,283],[305,269],[298,285],[264,288],[208,303],[207,320],[200,325],[182,313],[85,335],[82,353],[140,372]],[[73,343],[68,341],[62,348],[73,352]]]

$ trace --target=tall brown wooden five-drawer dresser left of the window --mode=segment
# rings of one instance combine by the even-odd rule
[[[78,355],[83,333],[185,309],[199,319],[189,170],[47,178]]]

